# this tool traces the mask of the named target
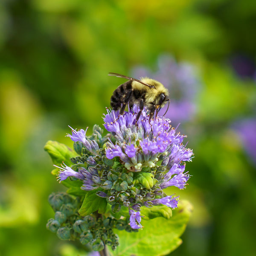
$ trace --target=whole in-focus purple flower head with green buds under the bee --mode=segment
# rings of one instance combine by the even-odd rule
[[[162,116],[150,119],[144,109],[136,120],[136,106],[120,116],[119,111],[107,111],[104,126],[112,137],[108,134],[104,145],[99,143],[103,145],[99,149],[95,140],[86,137],[87,130],[72,129],[72,135],[67,136],[86,149],[83,157],[87,167],[81,167],[80,162],[72,168],[64,163],[61,167],[55,166],[60,169],[58,180],[76,177],[83,181],[81,189],[97,189],[96,195],[106,198],[113,209],[128,207],[130,226],[139,229],[142,228],[142,206],[177,207],[179,197],[166,196],[163,189],[185,188],[189,175],[184,162],[191,161],[193,152],[182,144],[186,136],[177,133],[169,119]]]

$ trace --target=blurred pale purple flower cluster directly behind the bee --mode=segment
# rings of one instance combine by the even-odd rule
[[[160,81],[170,92],[170,106],[166,116],[172,122],[189,121],[196,113],[196,96],[201,82],[195,75],[195,67],[189,63],[180,63],[170,55],[160,55],[155,73],[145,67],[134,67],[132,74],[135,78],[150,77]],[[160,115],[166,109],[160,111]]]

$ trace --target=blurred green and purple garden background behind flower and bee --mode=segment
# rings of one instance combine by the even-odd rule
[[[195,158],[194,212],[173,256],[255,255],[256,2],[0,1],[0,255],[84,255],[46,230],[47,140],[102,124],[128,76],[166,85]]]

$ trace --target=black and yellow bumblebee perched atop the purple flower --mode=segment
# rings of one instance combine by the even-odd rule
[[[120,110],[119,115],[124,113],[126,105],[129,105],[129,108],[131,109],[133,105],[136,104],[140,107],[140,111],[137,113],[136,122],[139,120],[144,106],[148,108],[151,119],[153,118],[154,113],[156,113],[157,116],[158,112],[164,105],[166,105],[167,101],[170,102],[169,99],[166,99],[169,95],[166,87],[154,79],[145,77],[138,80],[117,73],[109,73],[108,75],[129,80],[124,84],[120,84],[119,87],[114,90],[110,99],[111,108],[115,111]]]

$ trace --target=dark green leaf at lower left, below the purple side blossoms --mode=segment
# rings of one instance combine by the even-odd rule
[[[83,204],[78,211],[81,216],[90,215],[97,210],[100,214],[106,211],[106,198],[101,198],[96,195],[96,192],[99,190],[100,189],[94,189],[86,193]]]

